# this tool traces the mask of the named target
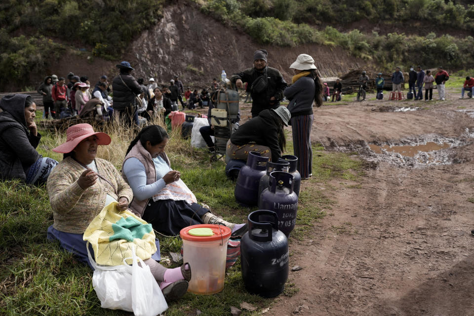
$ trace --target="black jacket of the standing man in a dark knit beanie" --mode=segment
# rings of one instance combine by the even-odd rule
[[[242,82],[248,82],[248,89],[252,96],[252,117],[256,117],[262,110],[276,109],[279,105],[279,101],[283,99],[283,90],[288,86],[278,70],[271,67],[266,67],[266,69],[268,78],[267,90],[259,94],[251,91],[250,87],[264,72],[258,72],[255,68],[249,68],[231,76],[231,81],[234,83],[237,79],[241,79]],[[271,97],[276,98],[274,104],[270,104]]]

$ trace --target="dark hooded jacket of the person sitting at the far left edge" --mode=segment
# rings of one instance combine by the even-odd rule
[[[26,126],[26,94],[6,95],[0,101],[0,178],[26,179],[25,171],[40,157],[36,147],[41,135]]]

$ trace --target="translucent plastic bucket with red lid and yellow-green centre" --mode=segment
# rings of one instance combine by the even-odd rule
[[[231,229],[223,225],[200,224],[183,228],[179,235],[183,239],[183,261],[189,262],[193,272],[188,291],[195,294],[222,291]]]

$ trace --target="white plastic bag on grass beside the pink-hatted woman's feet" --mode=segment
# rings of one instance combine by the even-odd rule
[[[168,309],[166,300],[150,268],[135,255],[132,266],[98,265],[92,259],[87,242],[87,254],[94,268],[92,285],[102,308],[133,312],[136,316],[157,316]],[[140,262],[141,266],[138,265]]]

